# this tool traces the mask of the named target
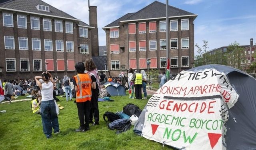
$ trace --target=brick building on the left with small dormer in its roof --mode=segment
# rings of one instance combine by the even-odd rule
[[[6,0],[0,4],[0,78],[28,79],[49,71],[73,76],[74,65],[98,54],[96,6],[93,26],[41,0]],[[92,52],[96,50],[96,52]]]

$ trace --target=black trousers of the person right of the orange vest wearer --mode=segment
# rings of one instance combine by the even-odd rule
[[[99,120],[100,120],[100,113],[99,113],[98,95],[97,94],[92,94],[90,122],[92,121],[92,116],[94,118],[94,122],[96,124],[98,124]]]

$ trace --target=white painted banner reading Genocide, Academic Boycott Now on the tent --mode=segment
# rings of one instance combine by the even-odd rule
[[[182,71],[148,100],[142,136],[186,150],[224,149],[226,107],[237,99],[224,73]]]

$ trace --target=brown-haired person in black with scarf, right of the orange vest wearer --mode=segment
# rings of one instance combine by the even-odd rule
[[[92,58],[87,58],[85,61],[85,69],[88,71],[92,78],[92,99],[91,99],[91,112],[90,112],[90,122],[92,123],[92,117],[94,118],[93,126],[99,125],[100,113],[98,106],[98,95],[100,92],[100,78],[98,76],[98,70],[94,64]]]

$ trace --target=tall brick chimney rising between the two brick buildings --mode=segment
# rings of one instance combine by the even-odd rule
[[[92,56],[99,56],[99,37],[97,23],[97,6],[89,6],[89,24],[93,26],[91,29]]]

